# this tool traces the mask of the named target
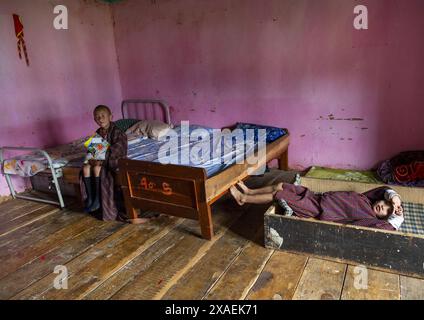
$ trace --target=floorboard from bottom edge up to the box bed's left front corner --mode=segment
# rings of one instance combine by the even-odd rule
[[[247,244],[205,299],[242,300],[246,298],[252,285],[258,279],[262,269],[274,252],[259,244],[263,241],[263,237],[263,232],[259,232],[256,241]]]

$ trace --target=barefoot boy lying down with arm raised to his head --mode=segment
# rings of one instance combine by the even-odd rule
[[[288,183],[249,189],[243,182],[230,188],[239,205],[245,203],[265,204],[276,200],[281,206],[288,205],[301,218],[315,218],[356,226],[398,230],[403,223],[400,196],[390,188],[380,187],[365,193],[349,191],[315,194],[309,189]],[[290,215],[290,214],[288,214]]]

